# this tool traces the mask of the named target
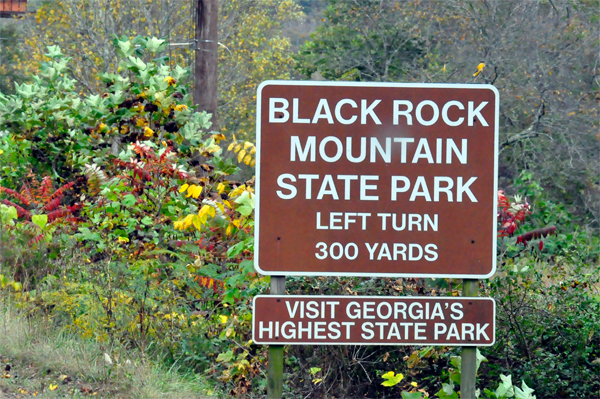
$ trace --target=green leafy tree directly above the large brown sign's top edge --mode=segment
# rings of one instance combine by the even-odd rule
[[[406,17],[411,6],[330,0],[325,23],[298,54],[298,69],[309,77],[319,72],[329,80],[401,79],[423,55],[419,26]]]

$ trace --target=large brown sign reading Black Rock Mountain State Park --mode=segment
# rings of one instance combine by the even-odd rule
[[[257,101],[260,273],[494,274],[493,86],[271,81]]]

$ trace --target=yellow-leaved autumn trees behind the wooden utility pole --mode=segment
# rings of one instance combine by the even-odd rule
[[[70,75],[82,90],[101,91],[99,73],[117,71],[113,35],[165,38],[177,44],[161,54],[192,65],[193,0],[64,0],[43,2],[23,21],[24,57],[16,69],[36,72],[48,45],[60,45],[73,59]],[[288,79],[292,48],[281,32],[302,17],[293,0],[225,0],[219,10],[219,126],[224,132],[254,136],[255,91],[267,79]]]

